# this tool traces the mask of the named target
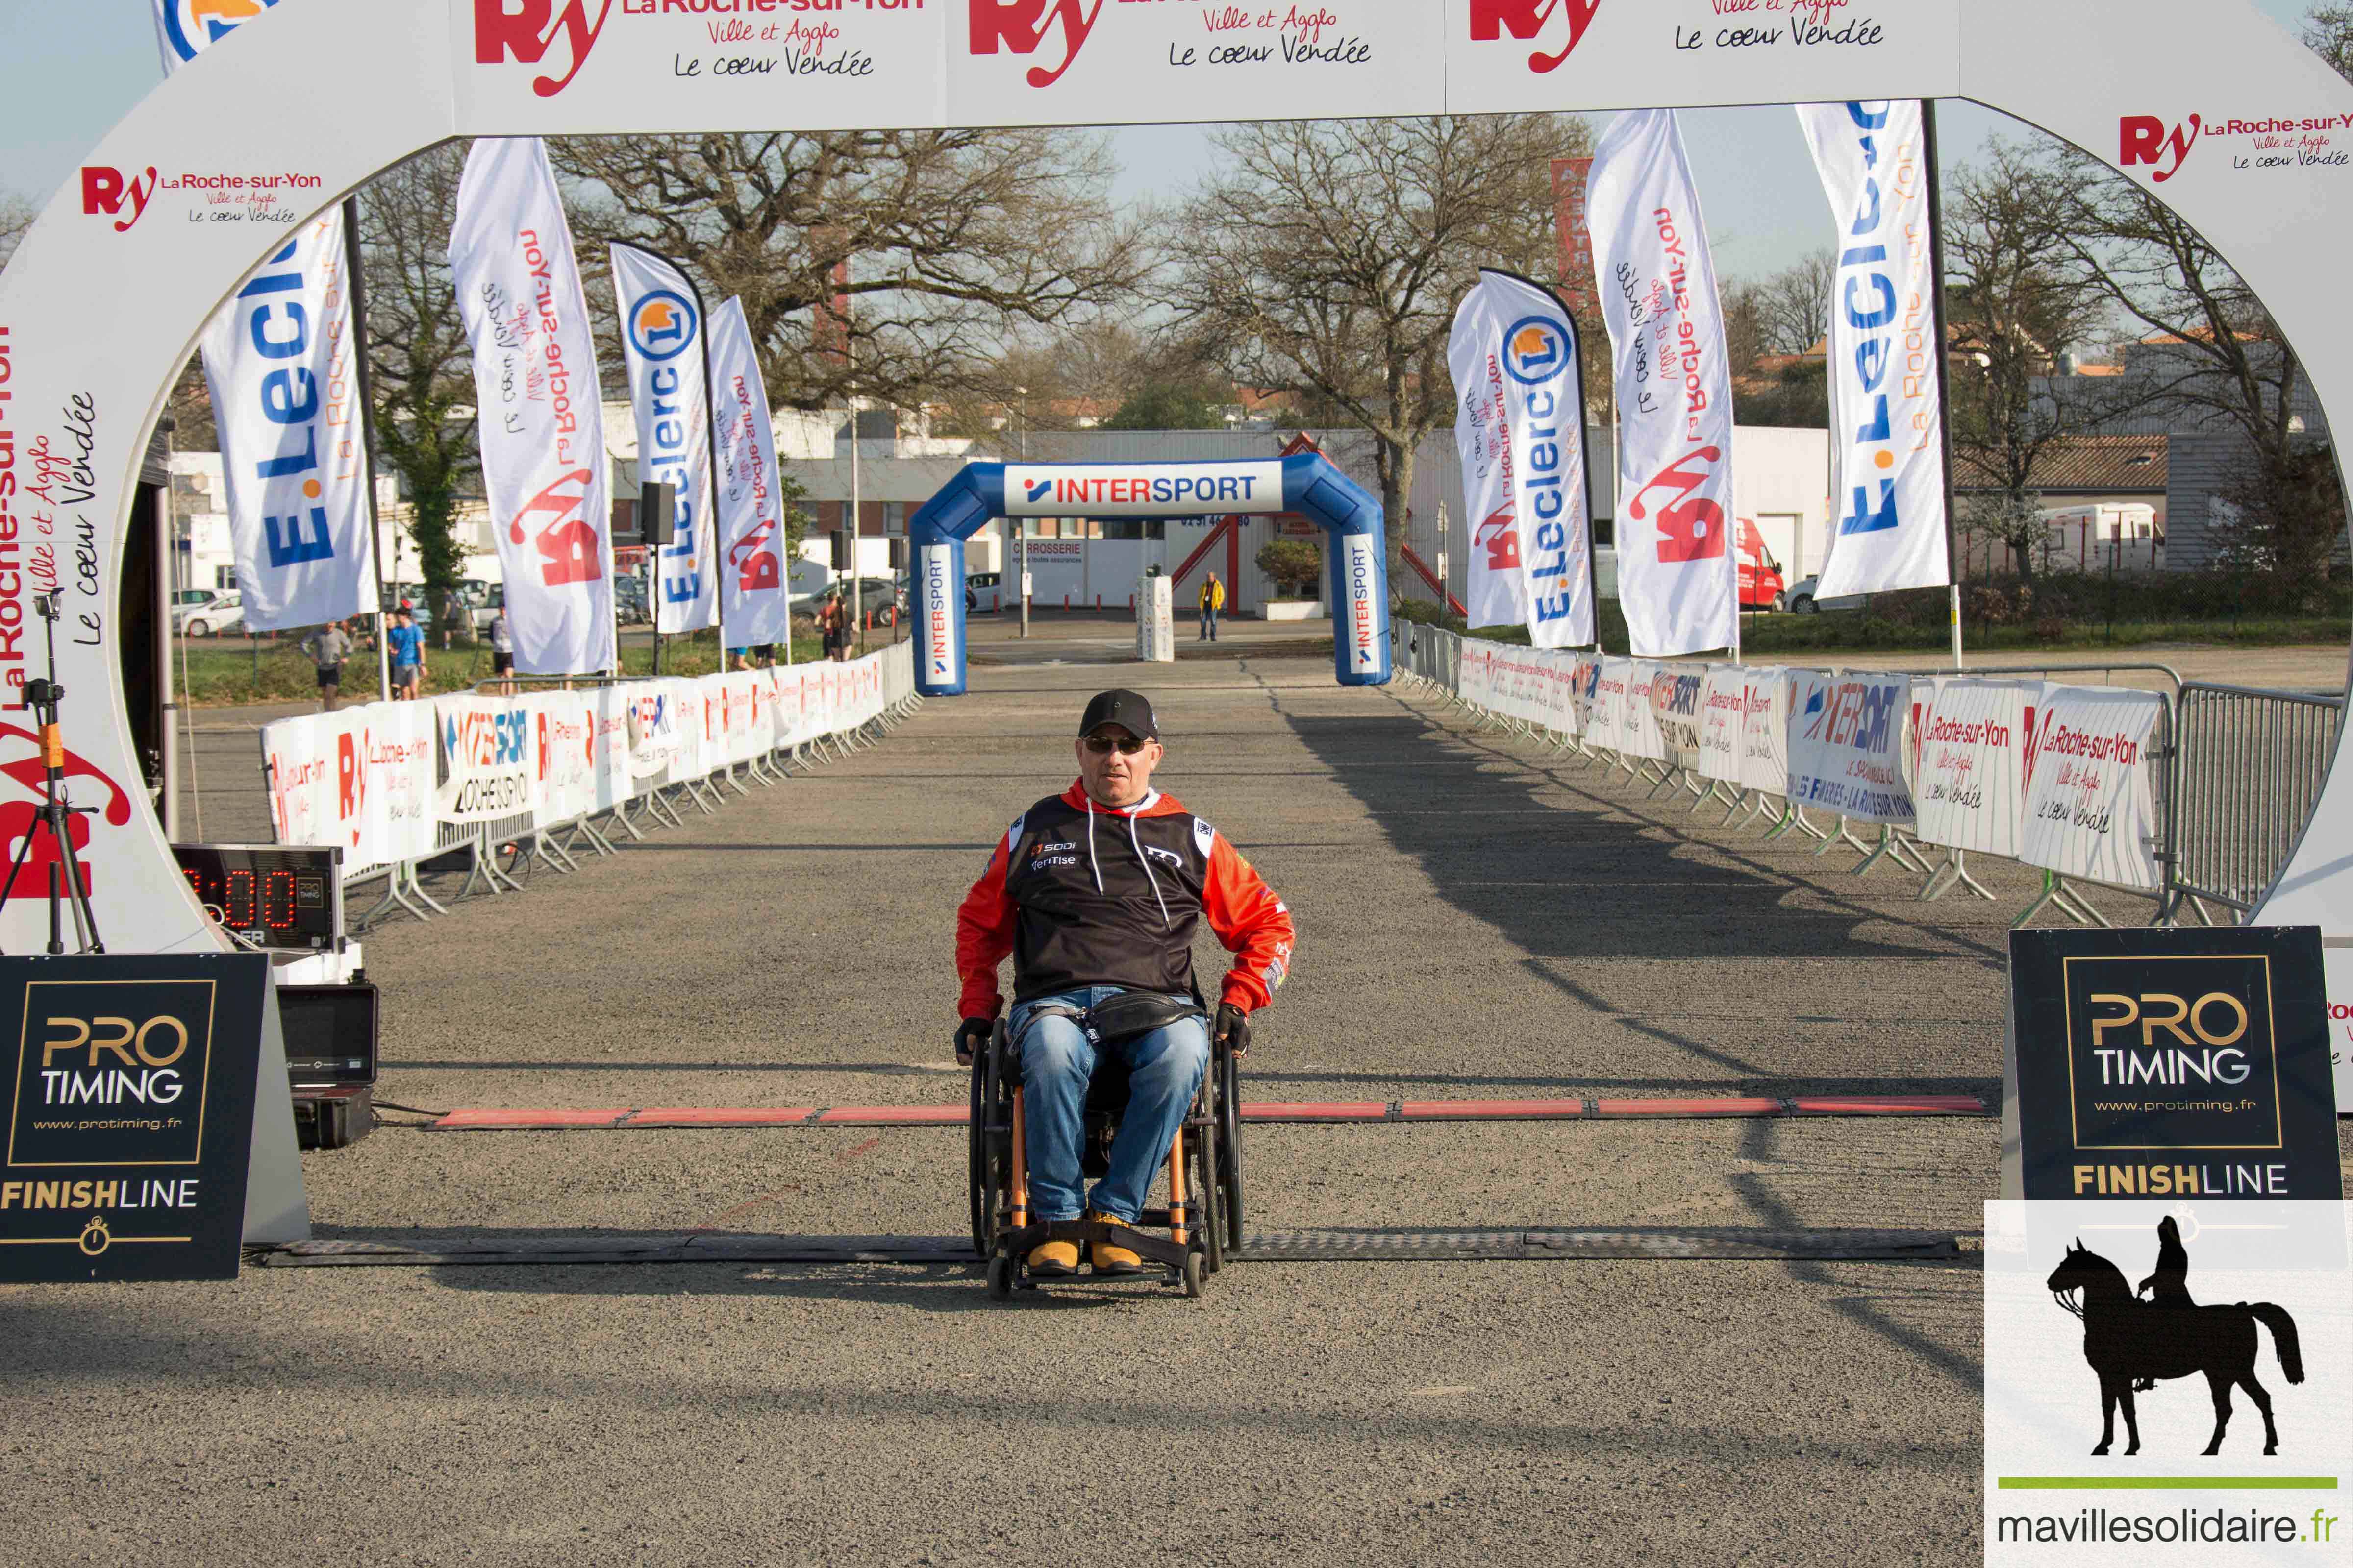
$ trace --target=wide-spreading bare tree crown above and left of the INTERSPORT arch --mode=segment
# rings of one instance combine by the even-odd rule
[[[776,407],[965,386],[1009,329],[1073,320],[1144,270],[1108,202],[1106,143],[1064,129],[586,136],[548,153],[584,240],[633,240],[713,303],[744,299]]]

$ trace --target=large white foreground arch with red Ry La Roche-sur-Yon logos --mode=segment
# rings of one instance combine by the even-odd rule
[[[2325,120],[2311,134],[2353,148],[2353,87],[2247,0],[1762,0],[1737,16],[1715,0],[292,0],[148,94],[0,277],[0,703],[40,672],[31,592],[52,571],[78,799],[108,806],[85,818],[99,926],[122,952],[209,945],[115,675],[139,456],[205,320],[289,221],[452,136],[1889,96],[1974,99],[2155,181],[2353,430],[2337,287],[2353,167],[2264,155],[2249,129]],[[31,759],[28,715],[0,712],[0,816],[33,799]],[[2348,806],[2339,759],[2268,919],[2353,938]],[[0,945],[35,952],[45,919],[40,896],[12,898]],[[2353,999],[2353,966],[2334,990]]]

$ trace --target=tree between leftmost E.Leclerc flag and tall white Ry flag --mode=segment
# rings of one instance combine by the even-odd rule
[[[376,463],[400,475],[419,576],[435,625],[449,623],[466,552],[456,508],[480,468],[473,348],[449,275],[449,228],[466,146],[445,143],[386,169],[360,193],[360,266],[367,282],[369,435]]]

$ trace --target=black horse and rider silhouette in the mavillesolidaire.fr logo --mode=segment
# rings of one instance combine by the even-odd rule
[[[2231,1385],[2247,1389],[2247,1399],[2264,1413],[2264,1453],[2280,1450],[2280,1429],[2271,1420],[2271,1394],[2254,1380],[2254,1352],[2259,1347],[2257,1324],[2271,1328],[2280,1352],[2280,1371],[2289,1382],[2304,1382],[2304,1347],[2297,1340],[2297,1319],[2271,1302],[2238,1302],[2233,1307],[2200,1307],[2191,1300],[2191,1255],[2181,1246],[2181,1227],[2172,1215],[2158,1220],[2158,1267],[2141,1281],[2139,1291],[2125,1286],[2125,1274],[2099,1253],[2085,1248],[2078,1237],[2066,1258],[2052,1269],[2052,1300],[2082,1319],[2082,1359],[2099,1373],[2099,1448],[2108,1453],[2115,1441],[2115,1408],[2125,1408],[2125,1432],[2132,1443],[2127,1455],[2141,1450],[2141,1422],[2132,1396],[2158,1387],[2162,1378],[2188,1378],[2205,1373],[2214,1394],[2214,1436],[2205,1453],[2221,1453],[2221,1434],[2231,1425]],[[2148,1300],[2139,1300],[2141,1293]],[[2080,1293],[2080,1300],[2075,1300]]]

